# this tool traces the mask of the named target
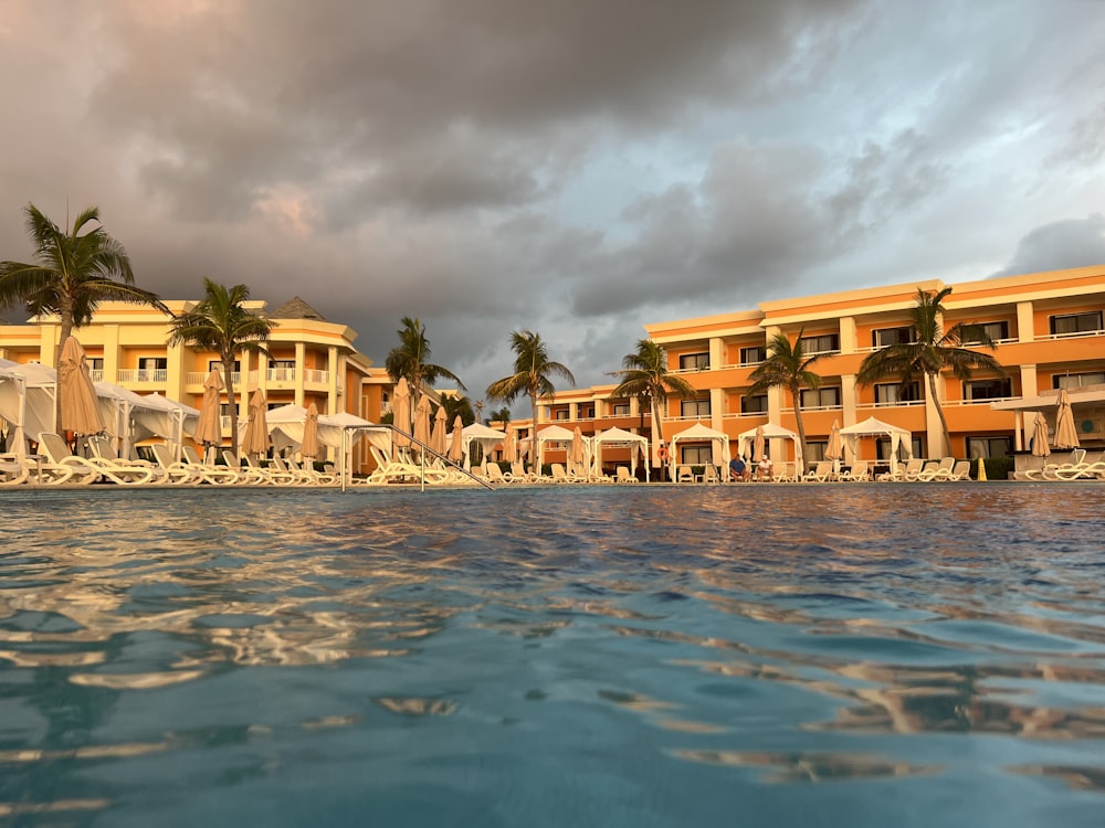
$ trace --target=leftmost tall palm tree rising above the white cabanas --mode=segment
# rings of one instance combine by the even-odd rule
[[[56,314],[61,321],[59,346],[74,328],[92,321],[105,300],[147,305],[169,314],[155,294],[135,286],[130,256],[99,223],[98,208],[86,208],[70,232],[61,230],[34,204],[28,204],[23,214],[34,242],[35,263],[0,262],[0,307],[23,301],[31,314]],[[60,361],[59,347],[54,368]],[[61,422],[60,388],[55,396]]]

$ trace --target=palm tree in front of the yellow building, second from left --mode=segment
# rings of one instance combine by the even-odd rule
[[[203,279],[203,298],[186,314],[175,317],[170,326],[169,343],[187,343],[214,351],[222,361],[223,385],[230,408],[232,445],[238,447],[238,396],[234,393],[234,358],[240,353],[264,353],[264,342],[275,322],[245,309],[250,288],[234,285],[228,288],[211,279]]]

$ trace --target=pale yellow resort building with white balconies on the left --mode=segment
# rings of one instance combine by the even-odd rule
[[[166,305],[179,315],[196,302]],[[267,357],[242,354],[234,364],[232,379],[241,422],[246,421],[249,396],[257,389],[264,392],[270,408],[314,403],[319,414],[349,413],[371,422],[388,411],[391,380],[357,351],[357,333],[348,326],[327,321],[298,297],[272,309],[260,300],[246,302],[246,308],[271,319],[275,327],[266,343]],[[105,301],[91,323],[73,332],[88,354],[95,381],[143,395],[156,392],[198,408],[204,379],[212,368],[221,370],[222,363],[215,353],[167,344],[169,322],[169,317],[151,308]],[[60,348],[59,328],[55,316],[34,317],[25,325],[0,325],[0,359],[53,365]],[[230,446],[227,406],[224,390],[223,437]],[[364,446],[356,450],[355,468],[367,460],[358,456],[362,452],[367,454]]]

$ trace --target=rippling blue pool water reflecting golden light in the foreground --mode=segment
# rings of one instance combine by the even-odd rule
[[[0,825],[1105,825],[1102,485],[0,508]]]

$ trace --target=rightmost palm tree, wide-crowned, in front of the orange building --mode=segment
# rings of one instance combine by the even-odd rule
[[[944,406],[940,405],[936,378],[945,369],[949,369],[956,379],[964,382],[971,378],[971,371],[975,369],[989,371],[999,376],[1006,374],[1001,363],[990,354],[964,347],[968,342],[977,342],[991,349],[997,347],[982,326],[975,322],[956,322],[947,332],[944,331],[944,299],[950,293],[950,287],[936,293],[918,287],[916,304],[909,309],[915,341],[886,346],[867,354],[855,376],[859,383],[872,385],[884,376],[897,375],[902,378],[903,390],[908,389],[918,374],[926,376],[928,396],[940,417],[944,445],[948,454],[951,452],[951,434],[948,431],[947,417],[944,415]]]

